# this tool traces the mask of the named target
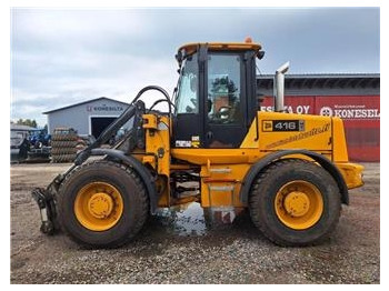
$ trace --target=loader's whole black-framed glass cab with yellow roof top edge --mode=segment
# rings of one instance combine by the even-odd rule
[[[256,43],[192,43],[179,49],[172,147],[239,148],[257,109]]]

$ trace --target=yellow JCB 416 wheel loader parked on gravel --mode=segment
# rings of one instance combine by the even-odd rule
[[[336,228],[363,168],[348,161],[339,118],[283,112],[286,63],[275,76],[275,112],[259,111],[260,44],[189,43],[176,59],[170,98],[143,88],[129,108],[47,189],[34,189],[41,231],[114,248],[133,239],[158,208],[197,201],[248,209],[280,245],[309,245]],[[149,109],[147,91],[161,99]],[[168,112],[156,110],[166,102]],[[111,148],[100,146],[120,138]]]

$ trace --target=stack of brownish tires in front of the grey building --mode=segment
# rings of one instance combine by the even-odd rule
[[[51,161],[72,162],[77,153],[77,132],[72,129],[54,129],[51,139]]]

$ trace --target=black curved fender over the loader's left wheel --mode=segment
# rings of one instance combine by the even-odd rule
[[[150,213],[156,214],[158,208],[158,192],[156,189],[154,178],[146,169],[146,167],[131,155],[124,155],[122,151],[113,149],[93,149],[91,155],[108,155],[120,160],[123,164],[131,167],[142,180],[150,200]]]

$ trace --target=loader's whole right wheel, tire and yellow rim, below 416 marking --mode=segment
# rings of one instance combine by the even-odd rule
[[[261,172],[251,188],[250,215],[271,241],[281,245],[315,244],[335,229],[340,193],[321,167],[280,160]]]

